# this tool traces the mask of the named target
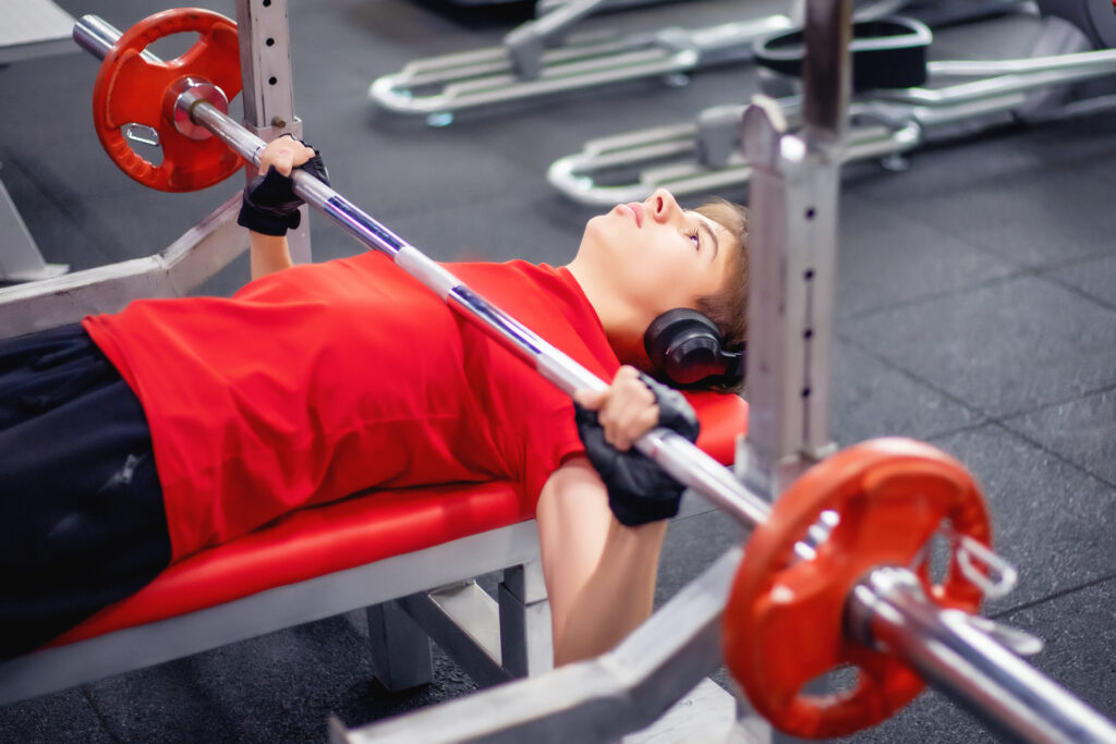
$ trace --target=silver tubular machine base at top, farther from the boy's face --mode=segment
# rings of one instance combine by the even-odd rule
[[[425,116],[431,126],[445,126],[456,112],[618,83],[657,78],[667,85],[685,85],[689,76],[701,69],[751,60],[757,39],[790,28],[801,11],[801,0],[787,0],[783,13],[705,28],[571,32],[593,13],[662,1],[540,2],[539,17],[510,31],[501,46],[413,61],[400,73],[376,79],[368,96],[383,110]],[[934,23],[947,23],[1004,12],[1019,4],[1020,0],[860,0],[857,15],[879,18],[913,7]]]

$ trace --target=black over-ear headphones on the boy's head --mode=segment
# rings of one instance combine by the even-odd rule
[[[689,308],[655,318],[643,335],[654,374],[676,387],[734,386],[744,378],[745,349],[727,350],[716,323]]]

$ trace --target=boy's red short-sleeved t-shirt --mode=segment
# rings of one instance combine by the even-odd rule
[[[565,268],[448,267],[594,374],[619,367]],[[232,299],[85,320],[143,403],[174,559],[369,487],[509,479],[584,451],[569,398],[386,257],[296,267]]]

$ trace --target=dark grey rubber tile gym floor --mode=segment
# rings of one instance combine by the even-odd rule
[[[80,3],[126,28],[142,0]],[[234,15],[230,0],[199,2]],[[334,185],[439,259],[562,263],[591,212],[562,201],[547,165],[594,136],[689,120],[740,103],[754,73],[702,73],[684,88],[634,85],[430,129],[374,116],[377,76],[417,58],[494,44],[522,15],[449,12],[407,0],[290,3],[295,93],[306,138]],[[703,0],[602,17],[651,29],[761,16],[780,2]],[[940,35],[937,55],[1026,54],[1011,23]],[[949,45],[949,46],[945,46]],[[0,69],[0,172],[48,261],[84,269],[154,253],[230,196],[144,190],[102,152],[89,114],[96,62],[83,54]],[[1113,113],[1010,127],[939,145],[903,173],[846,178],[837,279],[834,435],[930,441],[979,476],[998,550],[1019,588],[988,611],[1047,641],[1033,663],[1116,717],[1116,136]],[[725,193],[741,199],[741,193]],[[762,215],[757,215],[758,220]],[[355,243],[312,223],[315,258]],[[206,287],[228,293],[239,261]],[[665,599],[738,539],[709,514],[671,529]],[[472,689],[444,657],[411,694],[371,680],[360,615],[337,617],[0,708],[6,742],[325,741],[350,726]],[[718,676],[725,682],[723,674]],[[980,742],[991,735],[943,695],[864,742]]]

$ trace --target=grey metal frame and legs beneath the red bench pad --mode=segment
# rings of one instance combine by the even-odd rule
[[[376,676],[388,689],[431,680],[430,639],[481,685],[535,674],[551,665],[538,544],[535,521],[520,522],[45,648],[0,664],[0,705],[360,608],[368,608]],[[499,570],[498,603],[473,577]]]

